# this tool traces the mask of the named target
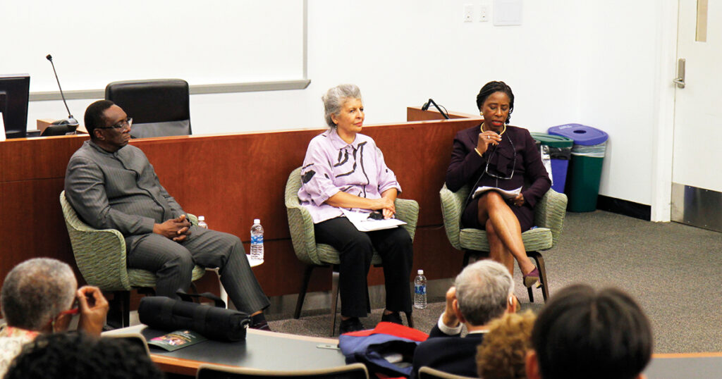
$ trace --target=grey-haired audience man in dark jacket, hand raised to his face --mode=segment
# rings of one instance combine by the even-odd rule
[[[446,292],[446,309],[432,328],[429,339],[414,352],[414,370],[428,366],[446,373],[477,376],[477,346],[482,343],[487,323],[505,312],[516,312],[514,282],[501,263],[477,261],[456,276]],[[461,336],[462,324],[469,334]]]

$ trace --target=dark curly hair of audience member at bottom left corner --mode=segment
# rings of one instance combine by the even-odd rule
[[[162,378],[141,347],[123,339],[96,339],[82,333],[38,336],[23,347],[5,379]]]

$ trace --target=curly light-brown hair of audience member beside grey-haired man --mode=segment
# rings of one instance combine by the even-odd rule
[[[477,351],[479,378],[524,379],[526,378],[526,352],[531,349],[531,329],[536,315],[507,313],[489,323]]]

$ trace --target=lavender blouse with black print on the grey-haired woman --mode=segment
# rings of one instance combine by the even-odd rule
[[[298,199],[308,209],[314,224],[343,214],[323,201],[339,191],[367,199],[380,199],[389,188],[401,192],[396,175],[386,167],[383,154],[370,136],[356,134],[347,144],[332,128],[311,139],[301,168]],[[354,209],[370,212],[367,209]]]

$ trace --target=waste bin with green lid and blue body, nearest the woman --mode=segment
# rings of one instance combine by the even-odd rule
[[[549,178],[552,179],[552,189],[564,193],[574,140],[565,136],[552,136],[546,133],[532,133],[531,136],[537,144],[545,147],[542,148],[541,160],[544,160],[544,167],[547,167]],[[547,158],[549,159],[549,166],[547,166]]]

